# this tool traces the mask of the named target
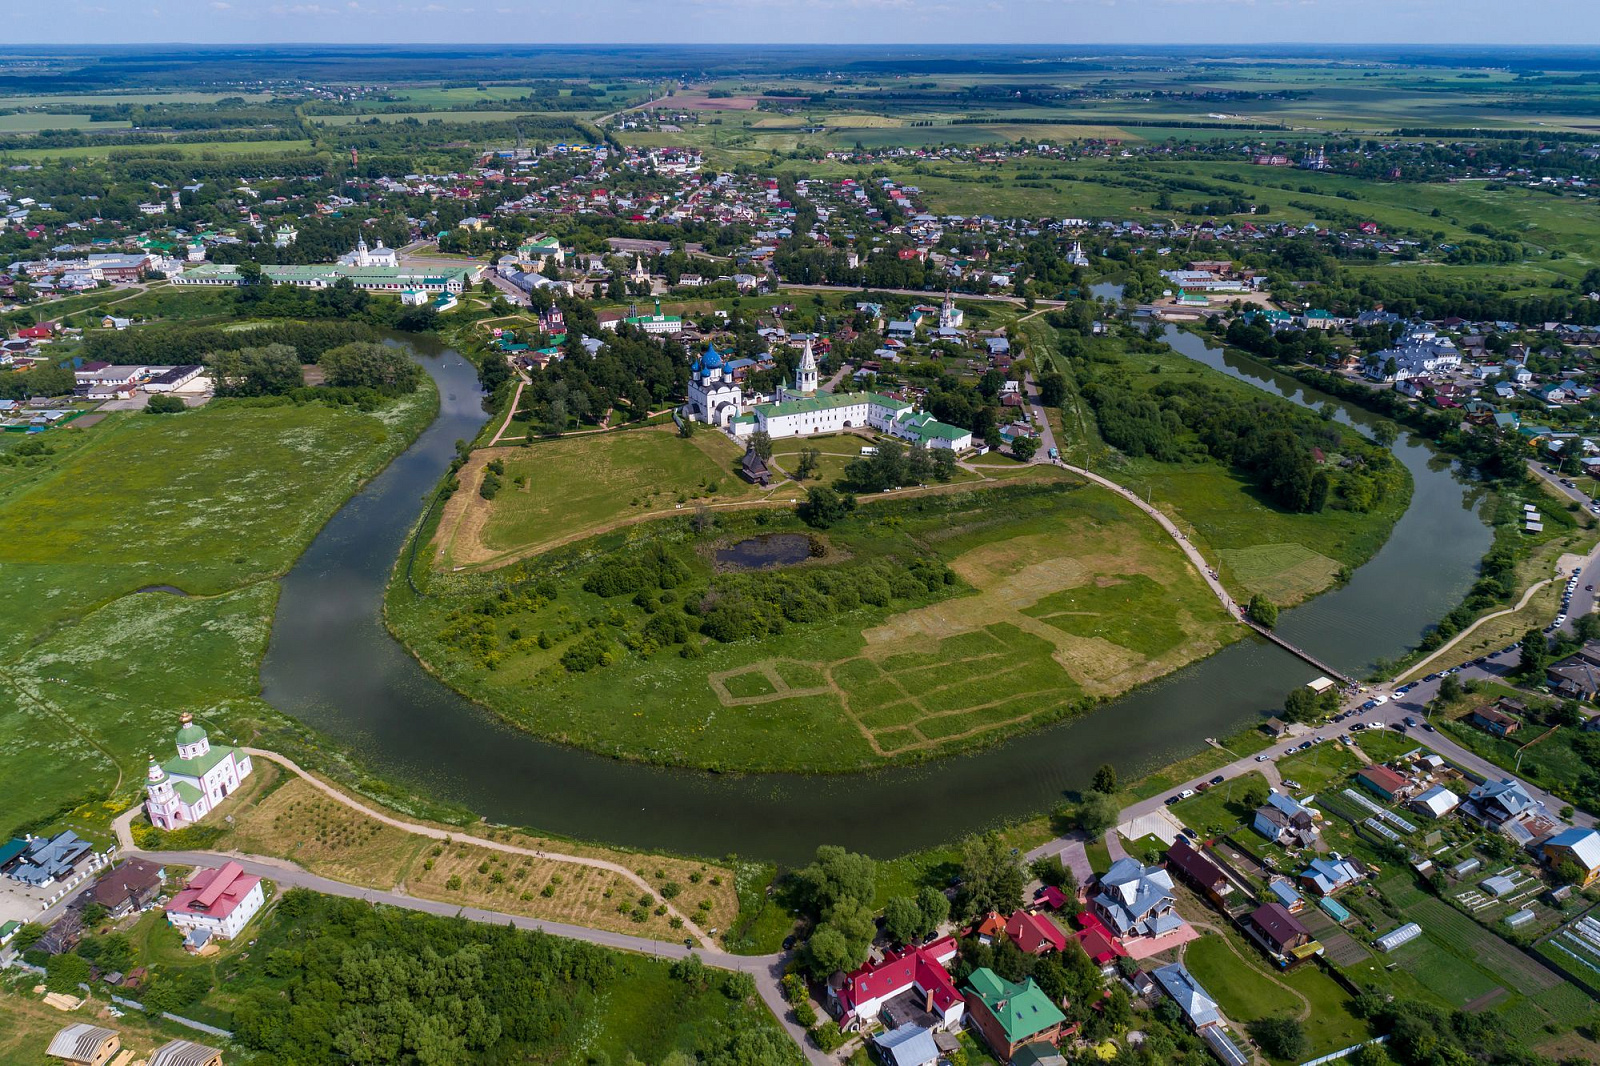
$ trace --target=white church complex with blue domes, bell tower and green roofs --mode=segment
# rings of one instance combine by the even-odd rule
[[[946,426],[910,403],[877,392],[819,392],[816,352],[811,341],[800,352],[794,387],[778,386],[770,403],[744,403],[744,389],[723,365],[712,344],[690,367],[690,399],[683,418],[717,426],[734,437],[760,431],[773,440],[808,437],[848,429],[877,429],[930,448],[962,451],[973,445],[971,432]]]

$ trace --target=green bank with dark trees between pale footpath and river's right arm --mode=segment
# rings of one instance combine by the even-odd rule
[[[1062,448],[1179,522],[1237,599],[1298,603],[1389,538],[1411,477],[1387,448],[1158,336],[1085,336],[1091,320],[1058,330],[1056,365],[1072,379]]]

